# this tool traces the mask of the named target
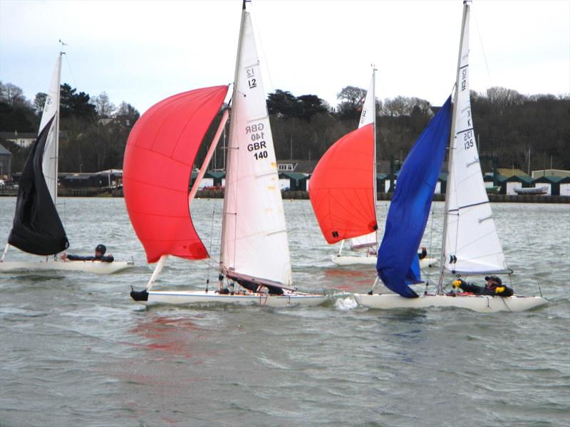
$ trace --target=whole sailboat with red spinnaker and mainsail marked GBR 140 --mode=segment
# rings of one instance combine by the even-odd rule
[[[324,295],[297,292],[292,284],[266,94],[245,1],[232,94],[218,287],[152,290],[169,255],[189,260],[209,256],[189,208],[228,120],[227,109],[190,193],[188,187],[197,149],[227,90],[214,86],[174,95],[152,106],[133,127],[123,168],[125,202],[147,261],[157,265],[145,290],[130,295],[145,305],[321,304]]]

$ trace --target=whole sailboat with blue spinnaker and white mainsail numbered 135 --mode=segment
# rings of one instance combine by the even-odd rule
[[[373,295],[371,290],[368,294],[354,295],[356,302],[366,307],[462,307],[477,312],[499,312],[529,310],[547,304],[541,296],[444,292],[446,275],[512,273],[497,235],[477,154],[469,89],[470,1],[464,1],[463,5],[455,102],[452,107],[450,98],[445,102],[408,154],[380,244],[378,275],[396,293]],[[405,272],[425,230],[447,139],[450,150],[440,276],[435,294],[425,292],[418,296],[405,283]]]

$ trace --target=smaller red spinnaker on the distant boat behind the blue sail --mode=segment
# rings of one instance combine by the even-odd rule
[[[309,181],[309,197],[327,243],[378,228],[373,162],[372,124],[338,139],[318,161]]]

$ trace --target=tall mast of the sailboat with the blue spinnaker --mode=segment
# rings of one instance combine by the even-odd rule
[[[445,209],[443,212],[443,236],[441,241],[441,258],[440,258],[440,280],[437,283],[437,294],[442,293],[442,283],[443,274],[445,273],[445,246],[447,239],[447,218],[449,216],[450,207],[450,171],[453,167],[453,152],[455,150],[455,121],[457,120],[457,97],[459,95],[459,83],[460,83],[460,72],[461,72],[461,56],[462,56],[462,46],[463,38],[465,37],[465,23],[469,17],[469,3],[470,0],[463,0],[463,18],[461,22],[461,37],[459,42],[459,53],[457,55],[457,74],[455,76],[455,94],[453,102],[453,113],[451,119],[451,129],[450,129],[450,152],[447,156],[447,186],[445,188]],[[454,183],[455,184],[455,183]]]

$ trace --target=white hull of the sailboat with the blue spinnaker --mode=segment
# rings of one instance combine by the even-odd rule
[[[499,311],[524,311],[548,304],[543,297],[492,297],[486,295],[420,295],[405,298],[400,295],[354,294],[358,304],[383,310],[393,308],[457,307],[481,313]]]

